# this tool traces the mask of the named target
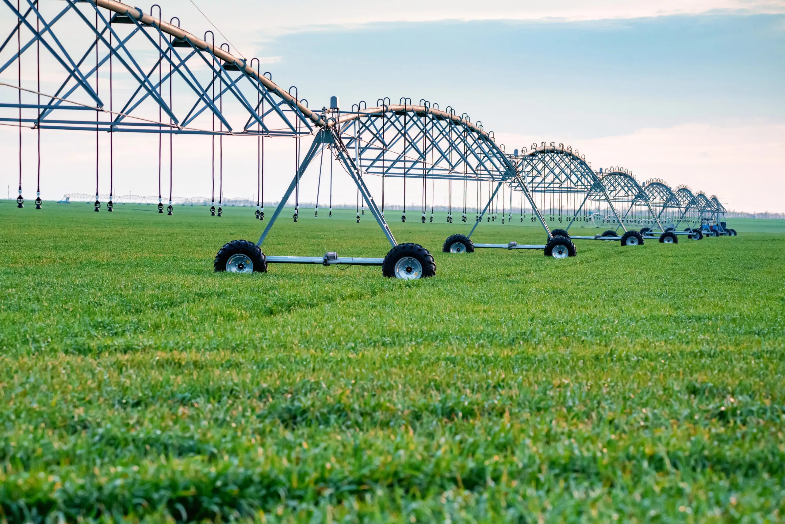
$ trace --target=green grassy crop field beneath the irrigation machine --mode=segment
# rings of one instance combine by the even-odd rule
[[[403,282],[214,273],[253,209],[33,207],[0,202],[2,522],[783,520],[783,220],[565,260],[392,220],[436,259]],[[335,214],[265,253],[384,256]]]

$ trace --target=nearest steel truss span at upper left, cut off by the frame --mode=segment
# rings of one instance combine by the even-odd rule
[[[271,75],[251,67],[255,59],[232,55],[228,45],[182,30],[177,17],[166,22],[160,13],[152,16],[113,0],[66,0],[56,10],[36,0],[24,0],[21,9],[11,0],[2,2],[20,23],[0,45],[0,74],[27,55],[38,67],[44,59],[48,76],[59,68],[63,77],[53,93],[34,93],[43,97],[38,104],[0,104],[6,111],[33,110],[35,118],[2,115],[0,121],[41,129],[264,136],[309,134],[323,124],[306,100],[298,100],[296,89],[290,94],[280,88]],[[72,35],[74,27],[82,27],[79,35]],[[15,40],[20,45],[13,46]],[[122,82],[123,93],[130,92],[125,100],[112,93],[111,81],[98,83],[99,72],[105,78],[109,71]],[[113,94],[117,100],[108,104]],[[207,116],[214,116],[212,126],[205,126]]]

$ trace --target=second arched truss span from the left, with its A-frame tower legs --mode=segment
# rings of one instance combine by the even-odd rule
[[[283,206],[300,183],[305,169],[325,147],[352,177],[363,201],[392,246],[396,246],[396,240],[365,183],[367,176],[403,179],[404,184],[405,180],[416,180],[424,187],[428,180],[489,182],[493,190],[469,235],[480,224],[502,184],[515,181],[523,188],[533,213],[537,214],[550,236],[550,229],[526,189],[523,176],[495,144],[492,133],[485,131],[479,122],[471,122],[466,114],[459,117],[449,107],[442,111],[431,107],[425,100],[418,105],[412,105],[409,100],[401,102],[379,107],[355,107],[352,111],[338,111],[338,108],[325,111],[322,118],[326,125],[316,134],[257,245],[261,246],[264,242]],[[406,220],[405,210],[401,218]],[[425,222],[425,213],[422,213],[421,220]]]

